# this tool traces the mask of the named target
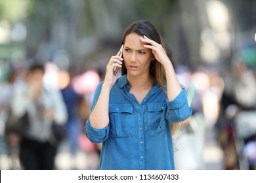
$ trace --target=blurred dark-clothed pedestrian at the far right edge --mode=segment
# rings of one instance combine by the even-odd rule
[[[224,76],[221,108],[228,114],[220,114],[217,123],[219,142],[224,150],[224,169],[247,169],[243,167],[241,152],[256,135],[256,78],[243,58],[234,58],[230,72]]]

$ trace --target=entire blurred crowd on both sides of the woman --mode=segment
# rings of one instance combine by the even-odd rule
[[[34,169],[97,169],[100,144],[90,142],[83,129],[95,88],[102,80],[100,69],[78,75],[71,69],[59,69],[51,61],[9,65],[0,84],[0,168],[33,169],[33,152],[41,160],[47,154],[43,162],[53,158],[52,168]],[[211,149],[207,156],[220,156],[219,169],[255,169],[255,68],[236,57],[227,70],[212,66],[193,70],[177,65],[176,71],[193,110],[175,137],[177,169],[212,168],[205,165],[210,131],[220,152]],[[25,111],[26,120],[28,116],[32,120],[30,125],[24,123]],[[54,122],[64,124],[67,132],[58,142],[51,139],[49,124]]]

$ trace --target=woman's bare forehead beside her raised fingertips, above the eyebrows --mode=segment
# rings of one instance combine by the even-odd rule
[[[129,48],[135,49],[146,49],[143,45],[144,43],[140,40],[141,35],[137,35],[136,33],[131,33],[125,37],[125,45]]]

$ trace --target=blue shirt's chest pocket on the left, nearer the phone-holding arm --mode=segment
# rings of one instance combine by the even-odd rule
[[[122,138],[135,135],[133,105],[109,105],[110,137]]]

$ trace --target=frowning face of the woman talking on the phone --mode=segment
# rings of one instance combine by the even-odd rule
[[[123,47],[123,59],[127,69],[127,75],[141,76],[148,75],[150,63],[154,60],[152,51],[145,48],[140,40],[140,35],[131,33],[125,37]]]

